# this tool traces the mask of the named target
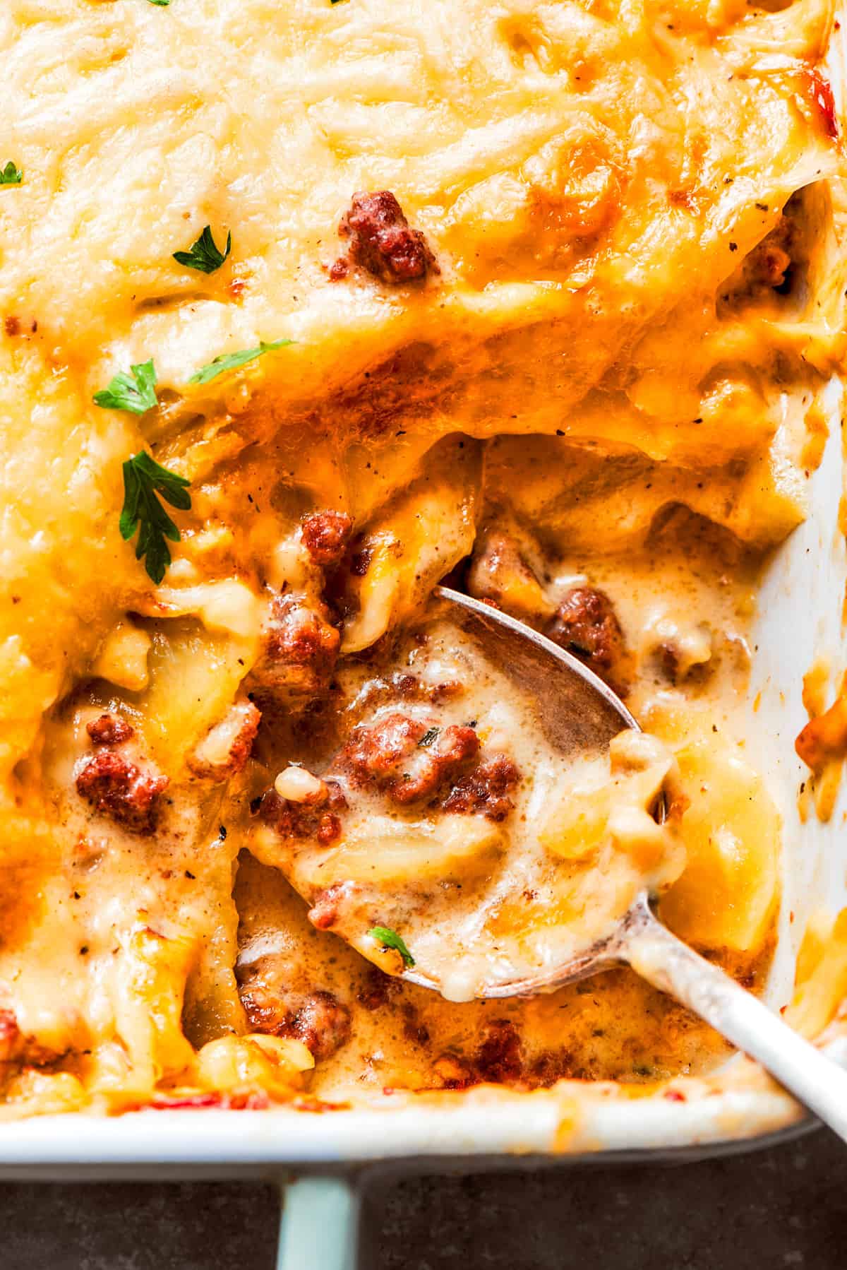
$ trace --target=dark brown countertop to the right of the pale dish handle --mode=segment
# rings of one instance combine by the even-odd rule
[[[363,1270],[844,1270],[847,1147],[681,1166],[401,1182],[366,1205]]]

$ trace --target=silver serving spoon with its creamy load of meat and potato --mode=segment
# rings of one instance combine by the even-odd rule
[[[277,777],[253,850],[264,842],[319,930],[450,1001],[627,964],[847,1140],[847,1072],[653,911],[684,867],[670,752],[571,653],[447,587],[434,601],[406,669],[353,685],[358,723],[323,776]]]

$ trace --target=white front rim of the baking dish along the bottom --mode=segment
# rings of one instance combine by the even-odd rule
[[[118,1119],[41,1116],[3,1126],[0,1176],[77,1166],[108,1176],[110,1166],[143,1172],[163,1163],[237,1166],[366,1163],[422,1156],[561,1154],[705,1146],[772,1133],[799,1118],[778,1091],[721,1092],[686,1104],[663,1099],[579,1101],[550,1091],[456,1099],[447,1106],[357,1109],[309,1114],[142,1111]],[[75,1170],[74,1176],[80,1173]]]

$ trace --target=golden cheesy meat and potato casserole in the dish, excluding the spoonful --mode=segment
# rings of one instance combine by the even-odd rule
[[[668,921],[759,982],[778,818],[738,748],[744,632],[842,353],[832,18],[6,0],[9,1114],[644,1078],[719,1053],[624,973],[499,1015],[397,987],[306,921],[262,836],[338,850],[349,806],[303,815],[277,787],[269,828],[274,780],[321,777],[357,674],[403,714],[392,657],[460,566],[629,692],[690,804]],[[207,225],[231,234],[211,273],[174,259]],[[150,361],[155,406],[94,404]],[[157,585],[119,528],[141,450],[190,483]],[[443,803],[479,786],[471,748]],[[453,817],[460,855],[493,823],[521,841],[524,810],[523,841],[568,837],[564,812],[550,828],[502,796],[502,822],[483,795]]]

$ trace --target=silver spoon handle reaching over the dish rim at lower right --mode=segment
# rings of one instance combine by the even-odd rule
[[[847,1072],[825,1058],[717,966],[659,922],[646,903],[631,913],[620,956],[662,992],[757,1059],[847,1142]]]

